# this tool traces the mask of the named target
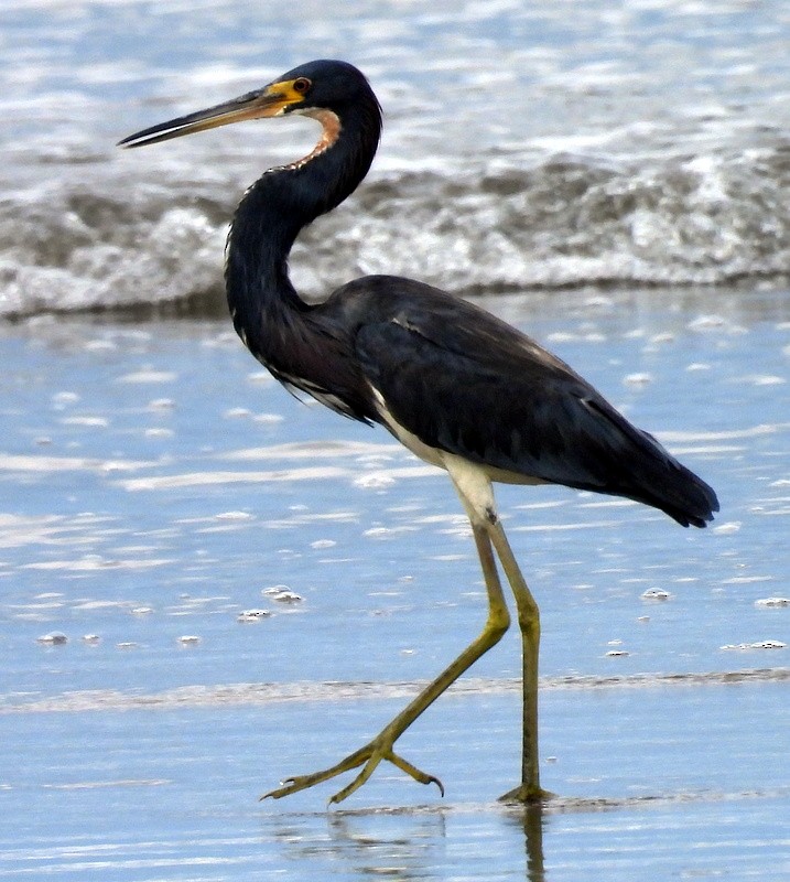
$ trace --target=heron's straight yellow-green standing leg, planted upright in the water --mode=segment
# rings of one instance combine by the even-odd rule
[[[502,564],[518,611],[521,630],[521,654],[523,665],[523,743],[521,753],[521,784],[506,793],[501,799],[508,803],[537,803],[552,796],[540,786],[538,755],[538,655],[540,649],[540,610],[532,592],[516,562],[510,542],[499,518],[493,518],[489,535]]]

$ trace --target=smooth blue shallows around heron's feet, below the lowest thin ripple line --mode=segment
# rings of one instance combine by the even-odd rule
[[[548,810],[538,829],[533,821],[526,828],[520,813],[480,800],[481,782],[496,790],[511,781],[516,696],[448,698],[407,739],[410,759],[452,782],[445,800],[385,771],[367,785],[361,807],[331,813],[317,794],[258,804],[260,778],[270,778],[272,766],[304,771],[305,752],[313,763],[328,761],[355,743],[347,729],[386,717],[388,706],[7,717],[6,756],[17,746],[10,788],[0,792],[0,874],[782,880],[790,869],[787,702],[781,716],[776,708],[784,691],[548,693],[545,742],[556,752],[548,783],[598,798],[628,793],[630,802]],[[316,720],[340,717],[339,729],[331,724],[339,743],[327,743]],[[725,768],[722,754],[706,750],[712,740],[727,751]],[[393,802],[400,810],[385,808]],[[376,804],[381,808],[366,808]]]

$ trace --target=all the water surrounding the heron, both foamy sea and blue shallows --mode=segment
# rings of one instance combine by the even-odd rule
[[[789,39],[780,0],[0,10],[0,878],[790,878]],[[446,476],[294,401],[225,316],[234,204],[307,122],[113,147],[322,56],[386,129],[300,290],[487,293],[722,502],[703,531],[500,490],[542,611],[543,813],[496,802],[516,634],[399,743],[444,799],[381,767],[339,810],[257,802],[485,617]]]

